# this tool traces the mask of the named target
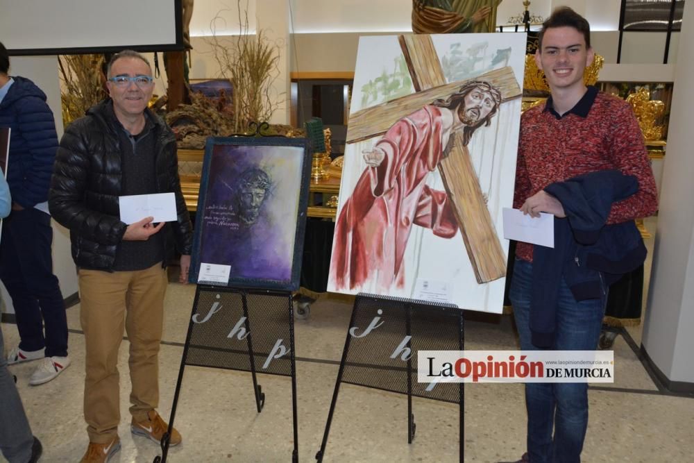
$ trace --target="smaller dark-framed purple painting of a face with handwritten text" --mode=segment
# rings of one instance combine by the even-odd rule
[[[311,167],[307,146],[305,139],[208,139],[193,283],[298,288]],[[211,280],[205,269],[221,269],[224,278]]]

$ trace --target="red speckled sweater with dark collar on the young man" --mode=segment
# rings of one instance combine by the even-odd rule
[[[551,100],[523,113],[514,208],[550,183],[589,172],[618,169],[636,176],[638,192],[612,205],[608,224],[654,214],[657,192],[648,151],[632,107],[589,87],[577,105],[558,117]],[[519,242],[516,256],[532,262],[533,245]]]

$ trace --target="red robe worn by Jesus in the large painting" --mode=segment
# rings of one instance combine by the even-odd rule
[[[364,170],[335,225],[330,261],[335,289],[358,289],[372,278],[379,289],[403,287],[412,224],[440,237],[455,236],[458,224],[446,192],[425,184],[442,158],[442,135],[441,108],[425,106],[378,141],[383,162]]]

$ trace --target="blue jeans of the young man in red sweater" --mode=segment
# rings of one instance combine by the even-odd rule
[[[532,264],[516,259],[509,298],[514,308],[523,351],[537,350],[530,342],[531,290]],[[605,301],[607,297],[576,301],[562,279],[557,303],[557,330],[552,349],[595,351],[600,338]],[[588,428],[587,383],[527,383],[525,407],[527,453],[531,463],[581,461],[583,441]]]

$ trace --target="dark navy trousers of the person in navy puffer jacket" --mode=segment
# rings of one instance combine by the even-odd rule
[[[46,357],[67,355],[67,316],[53,275],[51,216],[29,208],[3,221],[0,278],[12,298],[24,351],[46,348]],[[46,326],[44,336],[43,324]]]

